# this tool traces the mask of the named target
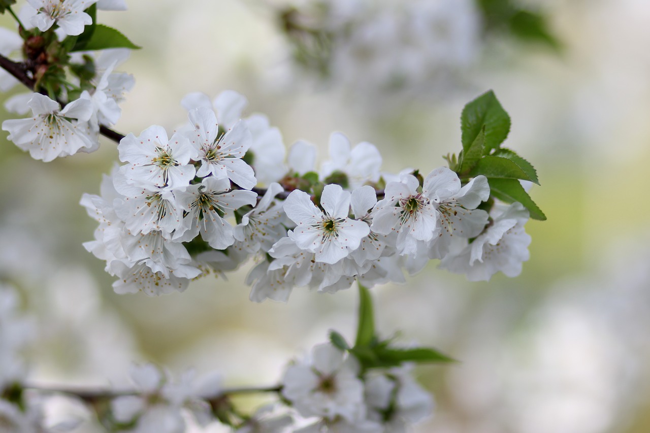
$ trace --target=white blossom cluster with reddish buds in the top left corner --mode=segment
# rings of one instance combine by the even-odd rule
[[[29,151],[34,159],[48,162],[80,151],[96,151],[100,127],[118,122],[122,114],[119,103],[135,84],[133,75],[115,71],[129,57],[129,49],[84,51],[81,46],[73,46],[68,51],[66,41],[74,42],[70,38],[76,38],[85,26],[94,24],[84,10],[95,3],[97,8],[125,8],[122,0],[30,0],[19,14],[21,22],[31,24],[22,29],[24,41],[15,33],[0,29],[0,55],[21,50],[17,60],[31,68],[37,85],[47,88],[45,94],[21,93],[5,102],[10,112],[31,111],[31,118],[5,120],[2,129],[8,131],[9,140]],[[31,33],[25,35],[26,32]],[[68,60],[60,64],[60,58]],[[3,71],[0,90],[9,90],[17,82]],[[68,103],[62,108],[61,101]]]

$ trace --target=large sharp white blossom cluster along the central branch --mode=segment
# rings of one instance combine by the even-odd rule
[[[186,125],[172,137],[152,126],[123,138],[125,164],[105,177],[101,196],[81,200],[99,221],[86,248],[118,276],[118,293],[183,291],[248,257],[257,261],[247,278],[257,302],[286,301],[293,287],[333,293],[354,280],[404,282],[402,269],[413,274],[430,259],[473,279],[512,276],[528,258],[527,211],[518,207],[508,226],[512,212],[478,209],[490,196],[484,176],[463,185],[445,167],[424,179],[382,173],[375,146],[353,147],[341,133],[316,172],[314,146],[294,144],[285,163],[281,135],[264,116],[239,120],[242,96],[224,92],[211,104],[194,94],[183,103]]]

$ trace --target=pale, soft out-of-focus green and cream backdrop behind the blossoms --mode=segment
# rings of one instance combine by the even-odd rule
[[[122,133],[173,129],[185,122],[185,94],[233,89],[249,100],[245,114],[265,113],[287,146],[317,144],[321,161],[341,131],[375,144],[387,172],[428,173],[460,150],[463,105],[495,90],[512,117],[506,146],[536,166],[541,187],[530,194],[548,220],[526,225],[530,261],[518,278],[469,283],[432,262],[406,285],[374,290],[383,335],[400,330],[461,361],[418,370],[437,408],[417,431],[650,431],[650,3],[526,1],[560,47],[476,27],[461,73],[431,86],[420,77],[429,91],[410,93],[363,88],[377,71],[363,62],[358,81],[343,85],[305,72],[274,12],[279,1],[127,3],[128,12],[98,14],[143,47],[118,68],[136,78]],[[96,153],[47,164],[4,132],[0,148],[0,278],[19,287],[40,325],[34,382],[122,384],[132,361],[149,360],[176,374],[217,370],[227,386],[270,385],[329,329],[352,339],[355,290],[295,289],[287,304],[255,304],[248,266],[185,293],[114,294],[103,262],[81,246],[96,222],[78,203],[99,192],[116,146],[105,140]]]

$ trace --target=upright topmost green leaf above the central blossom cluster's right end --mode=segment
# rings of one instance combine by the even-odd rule
[[[463,108],[461,141],[464,152],[469,151],[483,127],[485,127],[484,154],[498,148],[510,132],[510,116],[501,107],[492,90],[482,94]]]

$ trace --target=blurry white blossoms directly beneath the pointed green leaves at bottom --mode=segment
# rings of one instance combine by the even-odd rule
[[[326,343],[289,365],[282,395],[302,417],[317,419],[301,433],[402,432],[434,407],[409,373],[406,365],[361,373],[354,356]]]

